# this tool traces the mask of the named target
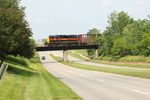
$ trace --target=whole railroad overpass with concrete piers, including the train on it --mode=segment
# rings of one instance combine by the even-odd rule
[[[36,51],[63,50],[63,59],[67,61],[67,50],[95,49],[95,57],[98,57],[96,38],[99,37],[101,34],[52,35],[48,39],[49,42],[46,42],[45,46],[37,46]]]

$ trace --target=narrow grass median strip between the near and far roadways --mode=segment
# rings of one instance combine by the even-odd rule
[[[61,62],[62,58],[54,55],[50,55],[56,61]],[[85,69],[85,70],[92,70],[92,71],[99,71],[99,72],[108,72],[114,74],[121,74],[121,75],[128,75],[134,77],[142,77],[142,78],[150,78],[150,71],[149,70],[131,70],[131,69],[123,69],[123,68],[108,68],[108,67],[98,67],[92,65],[85,65],[79,64],[75,62],[61,62],[64,65],[68,65],[75,68]]]

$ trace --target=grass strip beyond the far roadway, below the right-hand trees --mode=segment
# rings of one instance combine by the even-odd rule
[[[75,58],[81,59],[81,60],[87,60],[83,58],[82,56],[80,56],[82,52],[86,52],[86,51],[81,51],[81,52],[80,50],[70,51],[69,55]],[[109,62],[103,62],[103,61],[95,60],[95,59],[92,59],[90,61],[94,63],[113,65],[113,66],[131,67],[131,68],[149,68],[150,69],[150,65],[146,65],[146,64],[125,64],[125,63],[117,63],[117,62],[109,63]]]

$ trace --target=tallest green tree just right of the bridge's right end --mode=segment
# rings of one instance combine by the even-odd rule
[[[128,24],[131,24],[133,19],[125,12],[112,12],[109,15],[108,23],[109,26],[106,27],[106,30],[103,32],[103,44],[100,47],[101,55],[113,55],[114,50],[112,50],[114,42],[119,41],[120,37],[123,36],[123,29]],[[116,42],[118,45],[118,43]],[[122,50],[123,48],[120,48]],[[120,50],[117,50],[118,52]]]

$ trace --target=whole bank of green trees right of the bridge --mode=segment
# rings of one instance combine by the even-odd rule
[[[97,39],[100,56],[150,56],[150,16],[134,20],[128,13],[112,12],[103,32],[92,29],[88,34],[102,34]],[[88,50],[93,55],[93,50]]]

